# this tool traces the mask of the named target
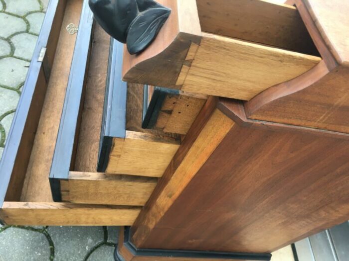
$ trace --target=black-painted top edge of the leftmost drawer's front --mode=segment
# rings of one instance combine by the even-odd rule
[[[65,7],[65,4],[63,3],[63,7]],[[38,61],[41,49],[44,47],[47,48],[53,48],[55,50],[57,46],[58,39],[53,39],[50,43],[50,46],[48,46],[48,40],[52,36],[52,28],[58,26],[61,26],[62,17],[58,14],[59,11],[59,0],[50,0],[47,12],[45,14],[42,27],[40,30],[40,34],[38,36],[36,46],[33,52],[33,56],[29,65],[28,73],[26,75],[26,79],[24,82],[23,90],[19,98],[18,106],[16,108],[16,112],[14,114],[14,118],[8,133],[8,137],[6,140],[6,145],[0,160],[0,206],[2,206],[7,188],[9,185],[9,181],[11,178],[11,174],[13,172],[14,166],[16,161],[18,160],[18,152],[22,141],[23,133],[27,132],[26,125],[28,121],[33,121],[33,119],[30,119],[29,117],[29,111],[32,106],[41,106],[42,104],[37,104],[38,101],[33,100],[35,90],[37,89],[37,80],[39,77],[40,70],[43,69],[45,71],[46,67],[49,67],[50,65],[45,65],[44,62],[47,61],[47,57],[45,55],[44,62]],[[58,19],[58,20],[56,20]],[[54,21],[56,21],[58,24],[53,24]],[[55,38],[54,36],[52,36]],[[54,41],[56,40],[56,41]],[[47,52],[46,52],[47,53]],[[54,52],[53,52],[54,53]],[[47,76],[49,77],[49,75]],[[48,80],[48,79],[46,79]],[[45,93],[41,93],[41,95],[45,95]],[[35,105],[33,105],[35,104]],[[38,115],[39,117],[40,115]],[[39,118],[35,119],[35,121],[38,122]],[[29,130],[29,131],[36,131],[37,126],[35,127],[35,130]],[[32,146],[34,142],[34,135],[33,140],[26,140],[25,143],[27,146]],[[31,150],[30,150],[31,151]],[[30,153],[27,155],[26,159],[19,159],[22,164],[29,161]]]

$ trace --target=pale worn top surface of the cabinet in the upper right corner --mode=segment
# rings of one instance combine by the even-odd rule
[[[304,3],[338,63],[349,66],[349,2],[304,0]]]

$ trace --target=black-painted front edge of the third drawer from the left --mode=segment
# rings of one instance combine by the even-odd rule
[[[122,81],[124,45],[111,38],[97,171],[105,172],[113,138],[126,137],[127,83]]]

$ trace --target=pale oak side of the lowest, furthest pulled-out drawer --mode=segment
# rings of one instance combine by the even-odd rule
[[[20,226],[130,226],[140,207],[4,202],[0,218]]]

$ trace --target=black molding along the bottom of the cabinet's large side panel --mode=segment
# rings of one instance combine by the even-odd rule
[[[188,259],[222,259],[222,260],[249,260],[249,261],[270,261],[271,254],[251,254],[239,252],[215,252],[215,251],[188,251],[188,250],[162,250],[162,249],[138,249],[131,242],[131,228],[125,227],[124,246],[130,253],[137,257],[168,257],[168,258],[188,258]],[[119,242],[119,244],[122,244]],[[115,261],[125,261],[118,252],[118,247],[114,252]]]

